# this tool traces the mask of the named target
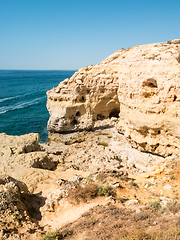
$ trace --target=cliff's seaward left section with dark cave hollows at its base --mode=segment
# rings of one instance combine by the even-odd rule
[[[118,75],[113,58],[80,69],[70,79],[47,92],[50,132],[73,132],[113,125],[119,116]]]

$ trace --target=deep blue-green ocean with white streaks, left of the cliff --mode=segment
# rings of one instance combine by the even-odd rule
[[[0,133],[40,134],[48,141],[46,91],[75,71],[0,70]]]

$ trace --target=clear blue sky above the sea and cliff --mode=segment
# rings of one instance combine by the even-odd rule
[[[0,69],[77,70],[177,39],[179,11],[179,0],[0,0]]]

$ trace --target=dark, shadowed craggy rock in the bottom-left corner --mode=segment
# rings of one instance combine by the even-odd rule
[[[23,186],[23,187],[22,187]],[[40,230],[35,219],[28,214],[23,196],[27,187],[8,175],[0,176],[0,239],[26,239],[28,233]],[[22,193],[23,191],[23,193]],[[29,202],[32,195],[29,194]],[[37,203],[36,203],[37,204]]]

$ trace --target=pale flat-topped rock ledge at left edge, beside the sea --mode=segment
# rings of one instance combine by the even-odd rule
[[[37,182],[51,175],[59,158],[41,151],[39,134],[22,136],[0,134],[0,174],[24,181],[33,191]]]

